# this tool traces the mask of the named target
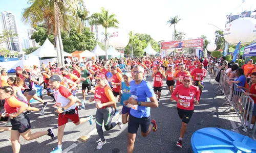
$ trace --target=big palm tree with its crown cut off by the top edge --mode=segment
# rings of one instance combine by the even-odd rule
[[[63,44],[61,30],[70,30],[71,22],[76,22],[78,30],[83,29],[83,25],[77,15],[77,8],[81,5],[86,7],[82,0],[29,0],[30,7],[24,9],[22,20],[25,24],[36,24],[44,22],[48,29],[54,34],[55,47],[57,50],[58,63],[64,65]],[[80,5],[79,5],[80,4]],[[72,16],[72,17],[71,17]]]

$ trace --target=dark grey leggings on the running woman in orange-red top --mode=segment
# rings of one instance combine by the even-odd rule
[[[96,111],[96,115],[95,115],[96,129],[101,141],[105,140],[103,135],[103,130],[102,130],[103,120],[104,120],[104,128],[106,131],[113,129],[117,124],[116,122],[111,122],[113,117],[112,114],[113,114],[112,107],[97,109]]]

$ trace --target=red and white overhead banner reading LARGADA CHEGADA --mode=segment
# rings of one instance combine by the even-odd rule
[[[178,41],[166,41],[161,43],[161,49],[169,48],[189,48],[189,47],[202,47],[204,39],[188,39],[188,40],[178,40]]]

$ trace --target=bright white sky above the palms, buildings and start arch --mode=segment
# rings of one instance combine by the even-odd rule
[[[244,1],[244,3],[242,3]],[[28,7],[28,0],[0,0],[0,11],[8,11],[16,16],[19,37],[27,36],[27,29],[21,21],[23,9]],[[156,41],[172,40],[174,26],[166,25],[170,17],[178,15],[182,20],[176,30],[186,33],[185,38],[198,38],[205,35],[211,42],[215,41],[215,31],[224,30],[226,15],[241,14],[243,11],[256,9],[255,0],[84,0],[90,14],[100,12],[104,7],[116,14],[119,27],[151,35]],[[208,23],[215,24],[209,25]]]

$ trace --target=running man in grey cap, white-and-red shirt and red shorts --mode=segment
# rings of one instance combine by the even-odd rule
[[[75,105],[76,97],[74,97],[68,88],[60,85],[61,79],[58,75],[52,75],[49,79],[49,85],[54,89],[54,96],[56,99],[58,113],[58,146],[53,148],[51,153],[62,152],[62,138],[64,134],[64,129],[68,120],[72,120],[75,125],[80,125],[86,121],[90,124],[93,123],[93,116],[90,115],[87,118],[80,118],[78,115],[78,109]]]

